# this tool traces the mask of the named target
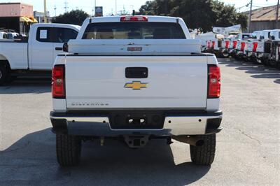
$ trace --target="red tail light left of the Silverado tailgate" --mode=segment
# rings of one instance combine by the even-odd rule
[[[52,98],[65,99],[64,65],[55,65],[52,69]]]

